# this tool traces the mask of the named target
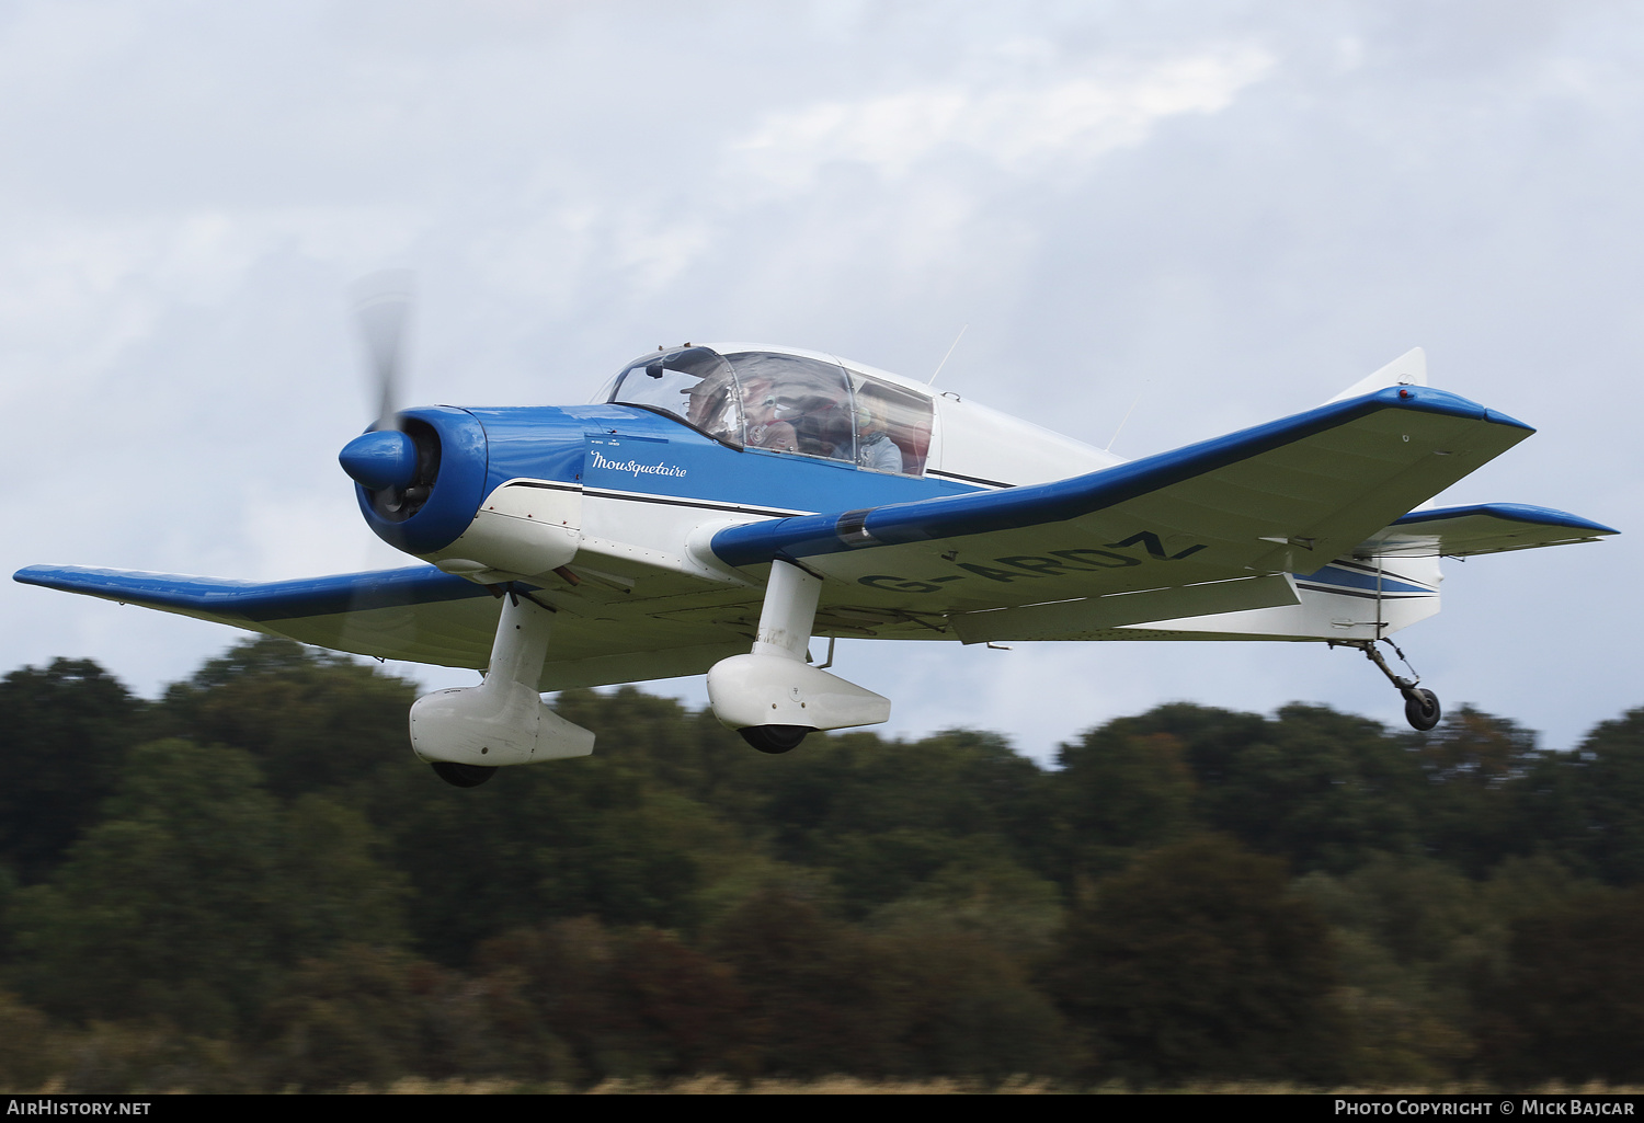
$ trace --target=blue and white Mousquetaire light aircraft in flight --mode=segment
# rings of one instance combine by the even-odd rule
[[[889,719],[834,640],[1289,640],[1363,651],[1438,612],[1440,559],[1616,531],[1519,503],[1419,510],[1532,429],[1412,350],[1325,404],[1123,460],[835,355],[658,349],[580,406],[398,409],[406,299],[362,304],[378,421],[342,449],[416,566],[243,582],[30,566],[16,580],[383,659],[483,669],[411,709],[450,784],[582,756],[543,691],[707,672],[766,753]],[[814,664],[814,638],[829,659]],[[1397,648],[1394,648],[1397,651]],[[1401,653],[1402,654],[1402,653]]]

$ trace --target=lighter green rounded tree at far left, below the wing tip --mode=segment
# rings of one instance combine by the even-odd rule
[[[317,797],[283,811],[243,751],[141,745],[105,814],[12,909],[48,1010],[225,1034],[298,955],[398,937],[398,878],[360,817]]]

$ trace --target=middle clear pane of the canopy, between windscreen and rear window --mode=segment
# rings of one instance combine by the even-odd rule
[[[776,352],[725,357],[741,386],[750,449],[853,462],[852,393],[845,368]]]

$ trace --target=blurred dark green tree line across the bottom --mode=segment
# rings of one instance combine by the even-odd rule
[[[414,687],[278,640],[0,681],[0,1082],[1644,1080],[1644,709],[1162,705],[751,751],[625,687],[454,789]]]

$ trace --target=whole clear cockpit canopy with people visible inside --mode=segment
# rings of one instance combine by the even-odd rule
[[[738,449],[922,475],[931,398],[837,362],[783,352],[676,347],[628,363],[605,401],[679,418]]]

